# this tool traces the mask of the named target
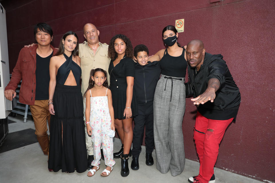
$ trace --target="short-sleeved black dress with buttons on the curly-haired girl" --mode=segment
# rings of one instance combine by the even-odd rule
[[[126,89],[127,89],[126,77],[127,76],[135,77],[135,62],[129,57],[124,57],[114,67],[113,61],[114,60],[111,60],[110,62],[108,72],[110,74],[110,89],[111,89],[112,99],[113,99],[115,119],[125,119],[125,116],[123,116],[123,112],[126,106]],[[138,114],[137,100],[135,97],[134,90],[133,90],[133,97],[131,102],[131,110],[132,110],[132,117],[137,116]]]

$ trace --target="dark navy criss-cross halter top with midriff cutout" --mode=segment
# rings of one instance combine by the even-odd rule
[[[72,55],[70,57],[68,57],[65,53],[63,55],[66,61],[58,68],[56,82],[58,84],[64,85],[70,71],[72,70],[76,85],[80,85],[81,68],[72,60]]]

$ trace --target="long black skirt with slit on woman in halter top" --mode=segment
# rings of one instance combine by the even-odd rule
[[[56,84],[51,116],[48,168],[54,172],[85,172],[87,150],[80,86]],[[63,140],[62,140],[63,126]]]

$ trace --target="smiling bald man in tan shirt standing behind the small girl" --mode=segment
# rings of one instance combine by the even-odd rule
[[[79,44],[79,57],[81,59],[80,61],[80,67],[82,70],[82,83],[81,83],[81,92],[82,95],[85,93],[85,91],[88,88],[88,83],[90,79],[90,72],[91,69],[101,68],[107,71],[107,79],[108,84],[110,84],[110,76],[108,73],[108,68],[111,59],[108,58],[108,47],[106,43],[99,42],[99,30],[97,30],[97,27],[91,23],[87,23],[84,25],[83,28],[84,31],[84,37],[87,41],[84,41],[82,44]],[[89,119],[85,119],[85,109],[86,109],[86,100],[83,100],[84,105],[84,121],[88,121]],[[87,134],[87,128],[85,125],[85,134],[86,134],[86,148],[88,152],[88,167],[87,169],[90,170],[93,168],[91,165],[91,162],[94,160],[93,156],[93,144],[92,144],[92,138]],[[103,152],[101,149],[101,157],[104,159]]]

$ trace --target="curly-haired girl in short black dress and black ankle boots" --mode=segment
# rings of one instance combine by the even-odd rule
[[[137,116],[137,102],[133,93],[135,66],[133,47],[125,35],[115,35],[108,48],[110,89],[115,112],[115,128],[122,142],[122,148],[114,153],[114,158],[121,156],[121,176],[129,175],[128,159],[133,140],[132,118]]]

